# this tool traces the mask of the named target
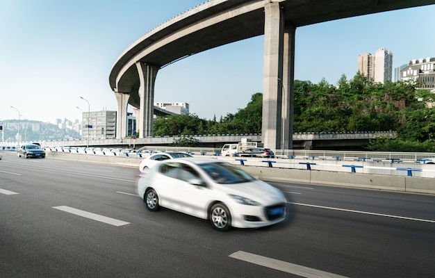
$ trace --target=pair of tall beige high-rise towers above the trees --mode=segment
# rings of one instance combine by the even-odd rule
[[[378,83],[391,81],[393,77],[393,52],[380,48],[375,54],[359,55],[358,71]]]

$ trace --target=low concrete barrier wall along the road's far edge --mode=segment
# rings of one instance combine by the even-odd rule
[[[70,161],[125,165],[137,168],[142,159],[136,156],[99,156],[95,154],[72,154],[67,152],[47,152],[46,157]],[[229,158],[222,160],[229,161]],[[231,161],[232,163],[239,163],[233,159],[231,159]],[[333,172],[327,170],[288,169],[267,167],[267,164],[262,163],[261,161],[257,161],[257,163],[257,166],[240,165],[239,163],[238,167],[258,179],[269,181],[294,181],[318,185],[435,194],[435,179],[433,178],[367,174],[358,172]]]

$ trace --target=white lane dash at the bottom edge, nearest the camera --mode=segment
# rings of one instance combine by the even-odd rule
[[[260,256],[248,252],[238,251],[229,255],[229,257],[238,259],[240,261],[247,261],[256,265],[262,265],[266,268],[280,270],[282,272],[291,273],[300,277],[306,278],[345,278],[345,276],[336,275],[334,273],[316,270],[314,268],[307,268],[302,265],[295,265],[294,263],[287,263],[286,261],[279,261],[270,259],[266,256]]]

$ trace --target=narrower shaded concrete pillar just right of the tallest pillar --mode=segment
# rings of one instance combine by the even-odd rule
[[[285,23],[283,57],[282,149],[293,149],[293,105],[295,103],[295,26]]]

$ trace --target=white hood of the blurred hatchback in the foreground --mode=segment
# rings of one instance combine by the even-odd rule
[[[218,186],[224,193],[246,197],[261,204],[286,202],[286,198],[281,190],[260,180],[247,183],[220,184]]]

